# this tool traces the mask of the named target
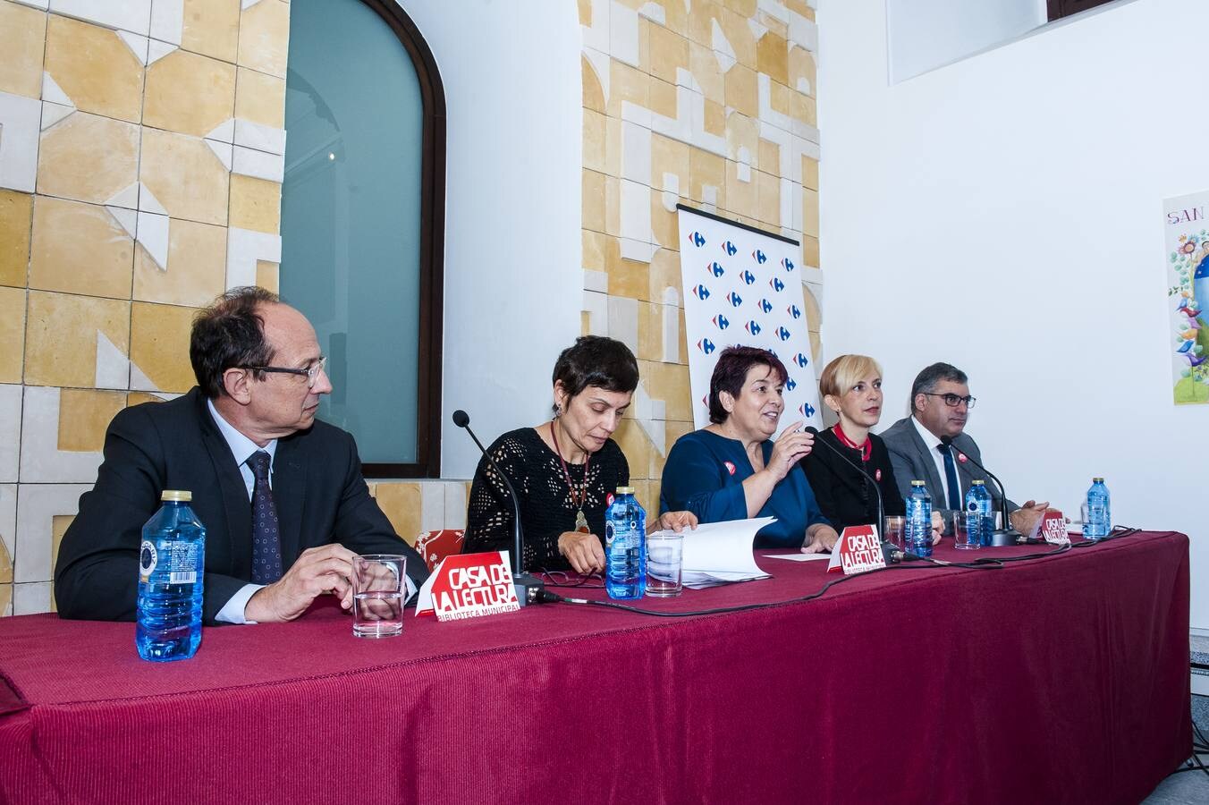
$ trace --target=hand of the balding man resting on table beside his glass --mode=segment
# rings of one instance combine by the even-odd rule
[[[285,575],[248,598],[244,618],[260,624],[294,620],[324,592],[340,596],[340,606],[351,608],[354,556],[337,543],[306,549]]]

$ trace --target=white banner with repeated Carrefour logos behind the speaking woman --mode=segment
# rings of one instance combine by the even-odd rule
[[[821,427],[802,297],[800,245],[679,207],[681,284],[693,422],[710,424],[710,376],[731,344],[769,349],[789,372],[781,424]]]

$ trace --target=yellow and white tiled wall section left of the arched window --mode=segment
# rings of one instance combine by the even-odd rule
[[[53,608],[109,419],[276,288],[284,0],[0,0],[0,613]]]

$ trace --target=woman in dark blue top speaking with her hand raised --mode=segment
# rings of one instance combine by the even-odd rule
[[[773,440],[787,376],[765,349],[722,351],[710,380],[711,424],[681,436],[667,454],[660,511],[692,511],[701,522],[776,517],[756,535],[756,548],[815,554],[835,545],[839,535],[798,465],[814,436],[794,423]]]

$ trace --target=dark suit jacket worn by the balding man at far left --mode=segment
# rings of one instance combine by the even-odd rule
[[[231,448],[197,388],[169,402],[146,402],[114,417],[97,485],[80,497],[54,569],[64,618],[134,620],[143,525],[164,490],[193,493],[206,526],[203,612],[214,622],[251,579],[251,504]],[[404,554],[407,575],[428,577],[369,494],[352,435],[325,422],[278,440],[273,499],[282,567],[307,548],[339,542],[357,554]]]

